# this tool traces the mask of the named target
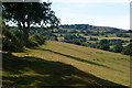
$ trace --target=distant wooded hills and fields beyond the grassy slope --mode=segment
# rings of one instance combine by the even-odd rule
[[[127,31],[88,24],[72,24],[61,25],[58,30],[54,30],[53,33],[46,35],[48,38],[55,36],[56,40],[54,41],[127,54],[124,53],[124,48],[127,48],[131,42],[130,34],[131,30]]]

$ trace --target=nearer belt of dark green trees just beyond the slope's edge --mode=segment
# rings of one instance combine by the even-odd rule
[[[97,41],[96,37],[89,37],[90,41]],[[96,43],[90,43],[87,41],[86,37],[79,35],[79,34],[66,34],[64,35],[63,42],[99,48],[103,51],[114,52],[114,53],[122,53],[125,55],[132,55],[132,44],[130,43],[127,46],[123,46],[122,43],[125,43],[125,41],[122,40],[100,40]]]

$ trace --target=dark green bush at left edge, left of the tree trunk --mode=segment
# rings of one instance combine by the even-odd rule
[[[6,25],[2,25],[2,50],[10,52],[22,51],[23,43]]]

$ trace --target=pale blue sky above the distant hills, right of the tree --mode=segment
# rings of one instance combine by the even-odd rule
[[[43,0],[48,1],[48,0]],[[131,0],[50,0],[62,24],[130,29]]]

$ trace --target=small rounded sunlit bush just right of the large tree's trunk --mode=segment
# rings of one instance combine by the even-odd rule
[[[44,44],[46,38],[41,34],[33,34],[33,35],[30,35],[29,40],[31,45],[37,46],[37,45]]]

